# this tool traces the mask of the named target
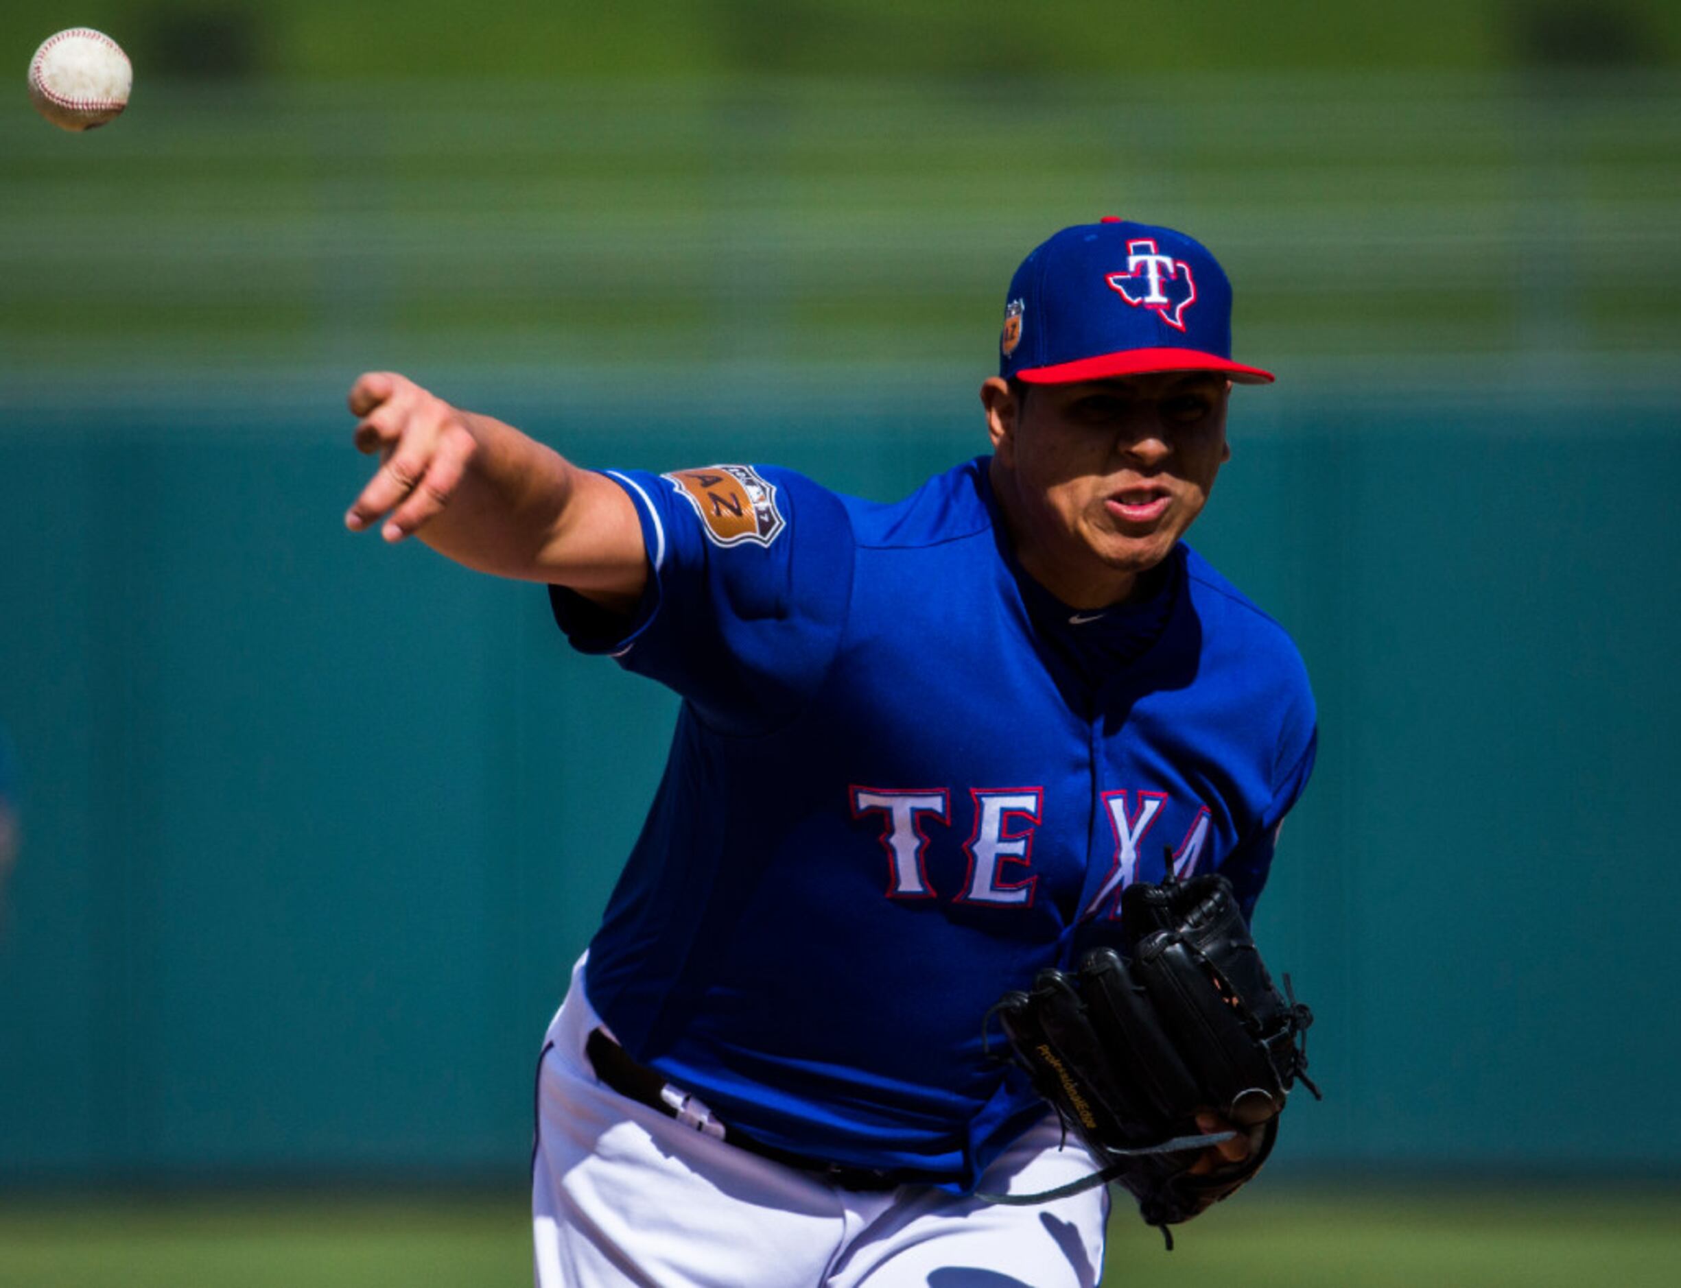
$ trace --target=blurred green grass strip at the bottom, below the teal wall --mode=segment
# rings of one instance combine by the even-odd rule
[[[521,1194],[25,1202],[0,1212],[0,1288],[493,1288],[530,1283]],[[1104,1285],[1673,1288],[1671,1192],[1257,1191],[1163,1253],[1120,1212]]]

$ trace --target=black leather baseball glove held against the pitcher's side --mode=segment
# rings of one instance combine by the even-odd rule
[[[1015,1063],[1103,1170],[1044,1194],[980,1197],[1044,1202],[1118,1181],[1172,1248],[1168,1226],[1261,1170],[1296,1080],[1320,1095],[1306,1075],[1313,1014],[1273,986],[1224,877],[1128,887],[1121,934],[1125,957],[1096,949],[1076,974],[1041,971],[1030,992],[1007,992],[992,1009]],[[1249,1154],[1192,1172],[1209,1145],[1230,1139],[1199,1134],[1197,1115],[1209,1112],[1247,1132]]]

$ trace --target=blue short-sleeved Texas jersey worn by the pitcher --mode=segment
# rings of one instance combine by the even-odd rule
[[[778,469],[609,477],[647,591],[625,621],[555,589],[556,616],[684,702],[592,1004],[767,1144],[972,1187],[1046,1112],[983,1051],[1005,989],[1115,942],[1170,861],[1252,908],[1313,766],[1296,648],[1183,544],[1138,603],[1057,603],[985,458],[888,505]]]

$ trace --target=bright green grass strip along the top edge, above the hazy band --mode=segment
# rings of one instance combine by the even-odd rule
[[[499,76],[523,81],[640,79],[780,72],[852,77],[1167,69],[1479,71],[1511,62],[1536,17],[1558,0],[87,0],[74,12],[10,7],[0,49],[57,27],[109,32],[153,65],[198,76],[244,69],[272,77],[393,79]],[[1634,42],[1644,62],[1681,52],[1681,10],[1649,0],[1580,5],[1592,13],[1575,50]],[[1555,18],[1557,22],[1557,18]],[[188,39],[183,39],[183,34]]]

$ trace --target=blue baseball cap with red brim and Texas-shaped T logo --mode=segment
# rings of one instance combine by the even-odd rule
[[[1232,284],[1205,245],[1108,217],[1062,228],[1022,260],[1004,304],[1000,376],[1067,385],[1150,371],[1273,381],[1232,361]]]

